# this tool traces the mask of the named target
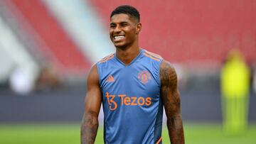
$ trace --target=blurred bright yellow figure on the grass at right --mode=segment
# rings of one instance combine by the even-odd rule
[[[239,50],[231,50],[220,74],[223,96],[223,125],[228,134],[242,133],[247,127],[250,69]]]

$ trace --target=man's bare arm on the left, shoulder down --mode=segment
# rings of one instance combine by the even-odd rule
[[[81,144],[93,144],[99,126],[98,115],[102,103],[97,66],[94,65],[87,78],[87,94],[85,96],[85,112],[81,123]]]

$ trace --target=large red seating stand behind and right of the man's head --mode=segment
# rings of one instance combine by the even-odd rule
[[[142,47],[171,62],[222,62],[239,48],[247,61],[256,60],[255,1],[91,0],[108,28],[111,11],[123,4],[141,12]]]

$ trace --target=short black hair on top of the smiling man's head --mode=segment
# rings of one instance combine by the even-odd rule
[[[118,6],[116,9],[114,9],[114,11],[112,11],[110,18],[112,18],[112,16],[114,16],[115,14],[120,13],[127,14],[128,16],[135,18],[138,22],[140,20],[139,11],[133,6],[129,5]]]

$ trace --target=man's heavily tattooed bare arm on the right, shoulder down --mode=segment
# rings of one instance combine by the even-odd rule
[[[183,144],[184,133],[181,118],[180,94],[177,87],[177,74],[169,62],[162,62],[160,69],[161,98],[167,116],[167,127],[172,144]]]

